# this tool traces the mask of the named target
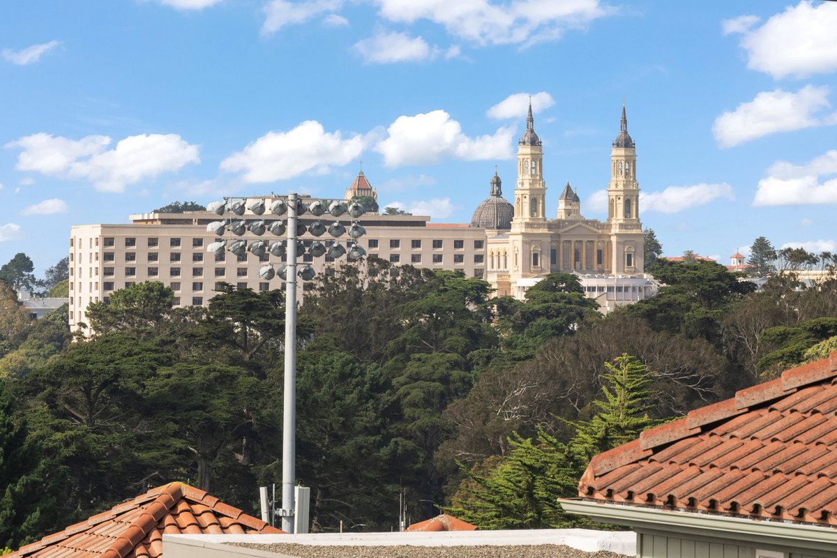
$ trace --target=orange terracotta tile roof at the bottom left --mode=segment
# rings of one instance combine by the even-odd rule
[[[171,483],[70,525],[8,555],[37,558],[155,558],[162,535],[284,533],[187,484]]]

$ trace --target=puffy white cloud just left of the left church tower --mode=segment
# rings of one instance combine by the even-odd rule
[[[509,159],[513,155],[512,128],[500,128],[493,136],[470,138],[444,110],[398,116],[387,132],[387,139],[375,146],[386,166],[432,165],[443,159]]]

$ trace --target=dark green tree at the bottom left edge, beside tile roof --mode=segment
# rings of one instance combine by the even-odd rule
[[[0,546],[18,548],[46,534],[55,520],[58,477],[0,380]]]

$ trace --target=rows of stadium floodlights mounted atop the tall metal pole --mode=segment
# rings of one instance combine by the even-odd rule
[[[226,201],[212,202],[207,206],[207,210],[218,215],[223,215],[224,212],[229,210],[229,212],[241,216],[244,215],[245,209],[249,209],[256,215],[264,214],[267,209],[267,204],[264,202],[264,199],[255,199],[246,207],[244,200],[229,202],[229,207],[227,203],[228,202]],[[288,202],[282,198],[273,200],[270,202],[270,212],[277,216],[285,215],[285,213],[288,212]],[[363,209],[363,206],[357,202],[351,202],[347,205],[344,202],[335,201],[331,202],[331,204],[326,207],[326,205],[320,200],[311,202],[311,204],[306,204],[299,199],[296,200],[296,216],[299,217],[306,212],[311,213],[314,217],[320,217],[327,212],[332,217],[339,218],[344,214],[348,214],[352,219],[357,219],[365,212],[365,210]],[[288,219],[288,221],[290,222],[290,219]],[[300,221],[296,221],[295,219],[294,221],[296,223],[295,232],[297,237],[302,236],[305,233],[311,233],[315,237],[319,238],[325,233],[329,233],[331,237],[339,238],[348,233],[349,237],[352,238],[351,241],[347,241],[346,248],[344,248],[343,245],[336,240],[326,240],[325,242],[316,241],[311,243],[311,246],[308,248],[308,253],[315,258],[329,256],[330,258],[338,259],[341,258],[343,254],[346,254],[349,261],[356,261],[366,255],[366,250],[359,246],[357,242],[354,242],[357,238],[361,238],[364,234],[366,234],[366,229],[363,228],[360,223],[352,221],[349,227],[346,228],[339,221],[334,221],[327,226],[325,223],[315,221],[306,228],[304,223],[300,223]],[[230,217],[229,221],[213,221],[213,223],[209,223],[207,225],[207,231],[214,233],[219,237],[223,236],[228,228],[230,233],[239,237],[243,236],[247,231],[254,233],[256,236],[262,236],[265,232],[270,232],[274,236],[280,237],[289,232],[288,225],[289,223],[286,223],[282,219],[275,219],[270,222],[265,221],[264,219],[259,219],[251,221],[248,225],[247,221],[244,219],[236,220]],[[249,251],[250,253],[253,253],[254,256],[263,256],[264,253],[271,253],[277,258],[281,258],[285,255],[285,253],[287,253],[286,246],[287,243],[285,240],[275,240],[273,242],[254,240],[248,243],[248,241],[244,239],[234,239],[230,242],[227,238],[221,238],[217,242],[210,243],[207,247],[207,251],[214,253],[216,256],[221,255],[224,250],[229,249],[229,251],[234,253],[236,256],[242,256]],[[297,240],[296,253],[300,254],[305,252],[305,244],[302,243],[302,241]],[[273,279],[278,275],[280,279],[286,280],[287,272],[288,266],[285,264],[281,265],[279,269],[273,269],[272,265],[264,264],[259,268],[259,277],[270,281],[270,279]],[[303,281],[310,281],[311,279],[314,279],[314,276],[316,275],[314,269],[311,268],[310,265],[303,265],[300,267],[297,274]]]

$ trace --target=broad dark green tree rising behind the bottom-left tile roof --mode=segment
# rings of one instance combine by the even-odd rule
[[[151,436],[142,403],[146,381],[168,363],[160,347],[107,335],[75,343],[23,378],[30,430],[42,440],[50,467],[67,478],[62,521],[133,497],[131,484],[165,470],[169,453]]]

